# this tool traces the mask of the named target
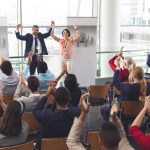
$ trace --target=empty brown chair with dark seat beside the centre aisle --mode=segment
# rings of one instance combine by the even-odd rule
[[[103,105],[107,102],[106,96],[108,95],[108,91],[110,89],[110,85],[90,85],[89,92],[90,98],[89,102],[92,106]]]

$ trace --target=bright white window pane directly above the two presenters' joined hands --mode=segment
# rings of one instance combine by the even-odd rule
[[[66,24],[67,0],[24,0],[22,1],[23,25]]]

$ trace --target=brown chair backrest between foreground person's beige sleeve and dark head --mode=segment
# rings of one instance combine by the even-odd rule
[[[90,150],[101,150],[99,132],[88,132],[87,143],[90,145]]]

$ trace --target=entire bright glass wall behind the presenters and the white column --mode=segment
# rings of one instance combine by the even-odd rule
[[[33,24],[38,24],[41,32],[47,32],[51,20],[56,24],[56,35],[67,25],[67,17],[94,17],[103,15],[100,11],[102,0],[3,0],[0,17],[7,18],[9,56],[18,57],[24,53],[24,42],[15,37],[15,26],[22,24],[22,34],[31,32]],[[125,55],[133,56],[138,65],[146,68],[146,56],[150,48],[150,3],[149,0],[121,0],[120,42],[125,46]],[[97,8],[98,12],[97,12]],[[95,11],[96,10],[96,11]],[[94,12],[94,13],[93,13]],[[97,52],[100,51],[100,19],[97,27]],[[58,55],[58,44],[45,40],[49,54]],[[120,45],[120,46],[121,46]],[[137,52],[138,51],[138,52]],[[112,52],[113,53],[113,52]],[[100,56],[97,53],[97,76],[100,76]],[[139,57],[140,56],[140,57]],[[24,59],[11,61],[18,71],[23,68]]]

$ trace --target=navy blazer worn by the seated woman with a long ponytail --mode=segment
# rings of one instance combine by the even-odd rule
[[[140,95],[140,84],[139,83],[121,83],[118,79],[120,70],[116,70],[113,77],[113,85],[121,91],[119,101],[122,100],[139,100]],[[150,94],[150,83],[147,83],[147,95]]]

